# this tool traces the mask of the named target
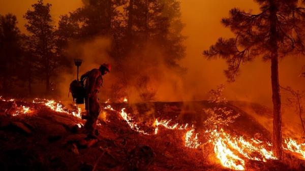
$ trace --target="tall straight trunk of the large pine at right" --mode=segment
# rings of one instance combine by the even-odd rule
[[[275,156],[282,160],[282,116],[281,116],[281,94],[279,83],[279,55],[277,44],[277,6],[274,0],[270,0],[270,52],[271,52],[271,85],[273,102],[273,136],[272,145]]]

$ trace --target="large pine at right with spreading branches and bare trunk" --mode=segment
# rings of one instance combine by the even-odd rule
[[[228,63],[225,74],[234,81],[242,63],[257,56],[271,61],[271,85],[273,102],[273,152],[282,159],[282,119],[278,63],[288,54],[304,54],[305,8],[298,0],[255,0],[260,13],[253,14],[234,8],[230,16],[222,19],[235,37],[220,38],[204,51],[208,58],[221,56]]]

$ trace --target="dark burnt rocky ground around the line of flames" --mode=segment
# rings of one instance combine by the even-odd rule
[[[240,113],[231,133],[253,136],[259,132],[264,140],[270,133],[250,115],[232,103],[228,108]],[[1,170],[229,170],[222,167],[210,144],[198,149],[185,147],[185,132],[160,127],[157,135],[143,135],[132,130],[115,111],[107,110],[106,121],[98,126],[99,141],[86,141],[76,123],[80,119],[56,113],[44,105],[18,102],[35,108],[29,115],[5,114],[12,102],[0,101],[0,169]],[[139,116],[145,131],[155,118],[192,123],[203,131],[206,101],[154,102],[147,104],[112,104],[115,110]],[[257,106],[256,108],[262,108]],[[247,170],[305,170],[305,163],[285,153],[283,162],[247,161]]]

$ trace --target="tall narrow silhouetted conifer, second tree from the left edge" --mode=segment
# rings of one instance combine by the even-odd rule
[[[55,34],[50,15],[51,4],[44,4],[39,0],[32,5],[33,10],[28,10],[24,18],[27,20],[25,27],[31,34],[31,47],[38,61],[38,69],[44,75],[46,81],[46,93],[50,91],[50,78],[54,75],[58,66],[58,58],[55,54]]]

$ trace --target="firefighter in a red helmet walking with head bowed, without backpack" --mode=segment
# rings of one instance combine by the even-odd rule
[[[98,99],[98,93],[103,84],[102,76],[109,73],[111,65],[104,63],[99,69],[93,69],[81,76],[80,81],[85,83],[85,109],[86,109],[86,123],[84,125],[85,133],[88,135],[98,135],[96,129],[96,122],[100,114],[100,105]]]

